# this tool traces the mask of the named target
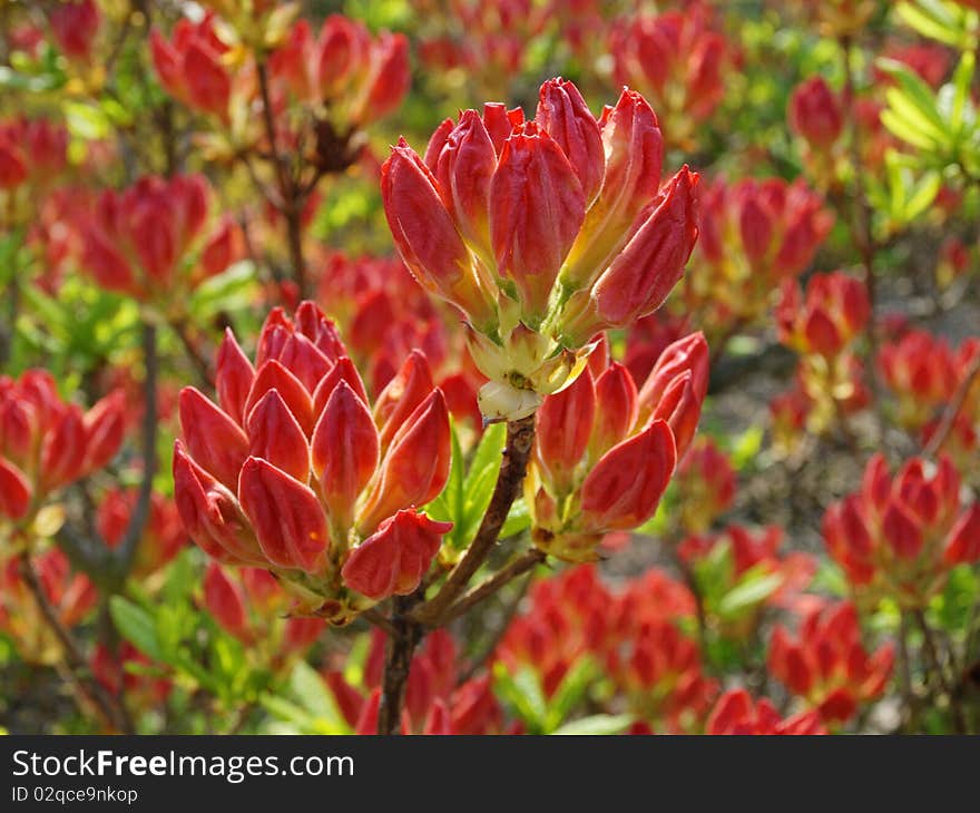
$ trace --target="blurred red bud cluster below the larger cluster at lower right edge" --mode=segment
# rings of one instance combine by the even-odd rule
[[[794,640],[782,625],[770,643],[770,672],[827,724],[846,723],[862,703],[884,693],[894,663],[889,643],[869,654],[854,605],[810,613]]]

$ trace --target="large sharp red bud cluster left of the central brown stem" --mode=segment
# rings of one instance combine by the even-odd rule
[[[255,365],[229,332],[218,404],[180,393],[177,507],[190,537],[232,565],[271,570],[297,611],[344,624],[418,587],[451,523],[418,507],[449,474],[449,414],[413,352],[367,402],[333,326],[312,302],[274,310]]]

